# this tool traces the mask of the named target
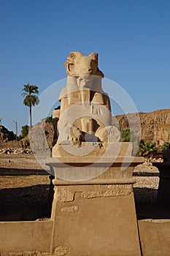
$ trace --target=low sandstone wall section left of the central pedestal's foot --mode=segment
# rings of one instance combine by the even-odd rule
[[[1,256],[39,256],[49,252],[52,240],[53,221],[0,222]],[[25,252],[25,255],[23,254]],[[27,254],[26,254],[27,253]]]

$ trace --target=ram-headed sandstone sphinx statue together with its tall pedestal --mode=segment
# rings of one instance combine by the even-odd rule
[[[132,173],[143,158],[120,143],[104,93],[98,54],[72,52],[68,75],[53,112],[53,157],[47,162],[53,184],[51,253],[70,256],[141,255]],[[57,250],[57,251],[56,251]]]

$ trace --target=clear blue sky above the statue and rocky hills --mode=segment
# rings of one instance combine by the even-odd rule
[[[41,94],[66,78],[74,50],[97,52],[139,112],[170,108],[169,0],[0,0],[0,31],[0,118],[10,130],[28,124],[23,85]]]

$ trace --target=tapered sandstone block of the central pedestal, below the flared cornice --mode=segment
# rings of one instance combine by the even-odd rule
[[[55,186],[51,253],[141,255],[132,184]]]

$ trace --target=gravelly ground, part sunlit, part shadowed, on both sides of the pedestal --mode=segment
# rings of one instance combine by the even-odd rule
[[[159,172],[150,164],[134,169],[136,214],[142,218],[170,218],[170,207],[156,201]],[[50,217],[53,187],[34,154],[0,154],[0,221]]]

